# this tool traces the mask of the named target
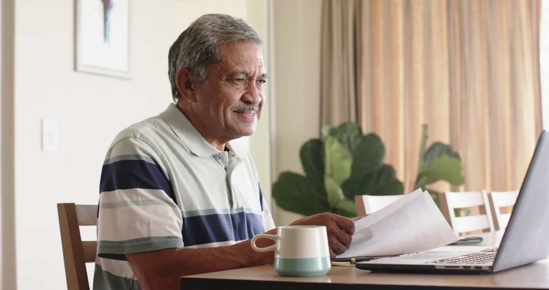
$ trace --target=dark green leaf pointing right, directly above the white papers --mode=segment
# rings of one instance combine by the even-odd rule
[[[384,164],[379,170],[366,176],[351,176],[341,186],[346,198],[354,200],[361,194],[388,196],[404,194],[404,185],[396,179],[393,166]]]

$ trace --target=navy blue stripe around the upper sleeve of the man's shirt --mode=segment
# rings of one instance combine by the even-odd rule
[[[177,203],[171,182],[158,165],[143,160],[120,160],[103,165],[99,192],[131,188],[161,189]]]

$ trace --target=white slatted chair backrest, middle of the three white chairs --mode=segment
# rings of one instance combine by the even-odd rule
[[[482,191],[443,192],[440,193],[442,214],[448,219],[457,235],[472,231],[494,231],[494,221],[488,202],[488,194]],[[477,208],[479,215],[456,216],[455,209]]]

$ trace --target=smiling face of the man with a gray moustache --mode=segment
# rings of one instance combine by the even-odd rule
[[[200,123],[195,126],[206,140],[229,141],[254,133],[267,75],[261,49],[253,42],[222,44],[220,52],[223,62],[210,65],[206,81],[194,87],[192,106]]]

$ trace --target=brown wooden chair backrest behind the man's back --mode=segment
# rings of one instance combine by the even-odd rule
[[[89,290],[86,263],[96,260],[97,241],[82,241],[79,226],[97,226],[97,204],[58,203],[57,213],[67,288]]]

